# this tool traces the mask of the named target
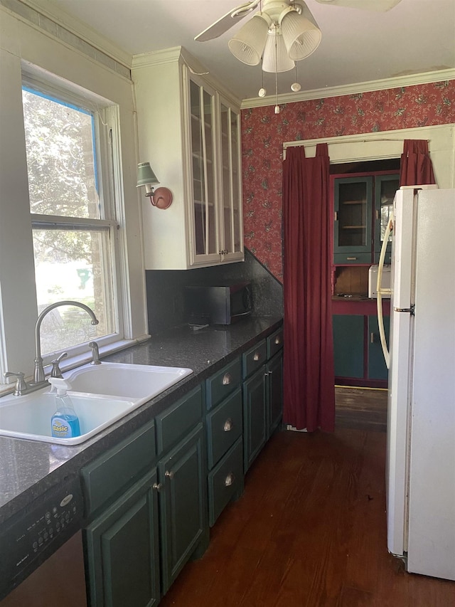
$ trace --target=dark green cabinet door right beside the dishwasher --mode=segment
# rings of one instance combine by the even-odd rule
[[[91,607],[151,607],[159,593],[156,471],[83,532]]]

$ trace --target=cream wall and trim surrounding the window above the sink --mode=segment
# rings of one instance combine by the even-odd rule
[[[8,352],[1,349],[0,361],[4,368],[26,374],[33,369],[37,317],[21,101],[22,67],[28,64],[118,105],[121,230],[126,233],[124,258],[131,292],[124,300],[129,311],[125,337],[138,339],[147,332],[132,82],[0,6],[0,343],[8,344]]]

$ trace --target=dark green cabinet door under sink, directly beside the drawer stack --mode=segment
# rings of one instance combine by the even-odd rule
[[[204,448],[199,423],[158,463],[163,593],[208,537]]]

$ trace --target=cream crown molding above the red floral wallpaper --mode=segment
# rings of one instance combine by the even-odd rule
[[[400,88],[402,86],[412,86],[427,83],[436,83],[444,80],[455,80],[455,69],[437,70],[435,72],[425,72],[407,76],[397,76],[395,78],[385,78],[384,80],[370,80],[364,83],[355,83],[350,85],[334,86],[330,88],[316,88],[307,90],[304,93],[286,93],[278,95],[278,105],[284,103],[295,103],[298,101],[309,101],[313,99],[324,99],[326,97],[341,97],[342,95],[356,95],[358,93],[369,93],[373,90],[385,90],[389,88]],[[264,107],[267,105],[276,105],[276,97],[267,95],[267,97],[253,97],[244,99],[240,106],[242,110],[249,107]]]

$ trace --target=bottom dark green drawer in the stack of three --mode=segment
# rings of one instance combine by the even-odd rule
[[[239,438],[225,457],[208,474],[208,519],[213,527],[232,497],[243,492],[243,447]]]

